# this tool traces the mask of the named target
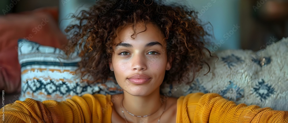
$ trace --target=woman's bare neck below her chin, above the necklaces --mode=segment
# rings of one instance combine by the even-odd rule
[[[160,101],[161,97],[159,91],[160,88],[156,89],[154,92],[152,92],[150,95],[147,96],[133,96],[124,91],[123,106],[128,112],[137,116],[150,115],[153,114],[154,112],[156,113],[153,114],[152,116],[149,116],[149,119],[152,118],[154,115],[159,116],[157,114],[162,113],[163,111],[162,103],[164,103]],[[159,110],[160,107],[162,110],[161,109]],[[127,119],[136,118],[136,117],[133,118],[133,116],[131,116],[127,112],[125,115]]]

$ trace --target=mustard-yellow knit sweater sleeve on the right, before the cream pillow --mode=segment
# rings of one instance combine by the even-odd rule
[[[276,111],[256,105],[236,105],[216,93],[190,94],[182,100],[181,107],[186,107],[182,116],[187,112],[183,121],[188,118],[188,122],[194,123],[288,123],[288,111]]]

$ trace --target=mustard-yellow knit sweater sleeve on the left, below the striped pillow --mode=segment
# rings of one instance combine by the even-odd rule
[[[3,116],[0,123],[81,123],[111,122],[113,105],[110,95],[85,94],[73,96],[66,101],[37,101],[31,98],[15,101],[1,108]],[[106,117],[103,117],[106,116]]]

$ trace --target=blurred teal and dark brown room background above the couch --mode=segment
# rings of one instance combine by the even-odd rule
[[[59,7],[63,30],[73,19],[70,13],[88,8],[95,0],[1,0],[0,15]],[[172,1],[172,0],[170,0]],[[177,1],[178,2],[178,1]],[[288,1],[285,0],[182,0],[198,11],[198,17],[214,34],[209,50],[250,49],[257,51],[288,37]],[[209,23],[212,25],[209,26]]]

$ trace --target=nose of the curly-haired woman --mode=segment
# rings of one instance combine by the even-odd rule
[[[133,70],[146,70],[147,66],[146,66],[146,57],[143,54],[134,54],[132,56],[132,69]]]

